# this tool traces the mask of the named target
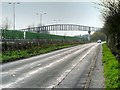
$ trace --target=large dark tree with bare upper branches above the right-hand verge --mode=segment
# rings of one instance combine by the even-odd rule
[[[102,0],[103,31],[107,36],[107,43],[114,53],[120,54],[120,0]]]

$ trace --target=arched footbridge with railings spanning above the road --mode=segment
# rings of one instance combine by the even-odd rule
[[[98,27],[90,27],[84,25],[76,25],[76,24],[53,24],[53,25],[45,25],[39,27],[30,27],[21,29],[22,31],[34,31],[34,32],[48,32],[48,31],[98,31],[101,28]]]

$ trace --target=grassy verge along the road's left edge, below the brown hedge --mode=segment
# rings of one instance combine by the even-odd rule
[[[32,48],[25,49],[25,50],[8,51],[8,52],[2,53],[2,56],[1,56],[2,59],[0,59],[0,62],[1,63],[11,62],[11,61],[19,60],[22,58],[28,58],[31,56],[47,53],[50,51],[54,51],[54,50],[58,50],[58,49],[62,49],[62,48],[66,48],[74,45],[78,45],[78,44],[66,44],[66,43],[48,44],[44,46],[36,46],[36,47],[33,46]]]

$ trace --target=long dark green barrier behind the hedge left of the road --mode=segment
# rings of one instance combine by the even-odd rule
[[[24,32],[19,30],[2,30],[2,36],[4,39],[24,39]],[[58,39],[58,40],[76,40],[76,37],[71,36],[59,36],[53,34],[26,32],[26,39]]]

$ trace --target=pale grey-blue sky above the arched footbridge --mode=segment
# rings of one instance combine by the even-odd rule
[[[0,12],[2,13],[0,14],[0,20],[4,22],[4,20],[8,18],[9,23],[11,23],[11,28],[13,28],[13,5],[8,3],[20,2],[20,4],[16,4],[15,6],[16,29],[26,28],[29,25],[38,26],[40,16],[36,15],[36,13],[42,13],[42,24],[44,25],[65,23],[102,27],[100,11],[95,8],[96,5],[92,3],[98,1],[99,0],[2,0],[0,3]]]

